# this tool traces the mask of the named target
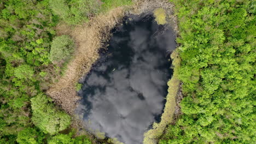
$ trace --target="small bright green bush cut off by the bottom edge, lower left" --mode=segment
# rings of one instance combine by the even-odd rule
[[[20,144],[39,144],[43,143],[44,134],[33,128],[25,128],[19,131],[17,142]]]

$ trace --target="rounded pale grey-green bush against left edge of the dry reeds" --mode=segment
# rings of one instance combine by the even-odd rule
[[[50,60],[53,63],[67,59],[74,51],[74,41],[68,35],[56,37],[51,43]]]

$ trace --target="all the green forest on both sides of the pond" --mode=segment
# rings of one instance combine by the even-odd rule
[[[256,1],[171,0],[178,19],[181,112],[160,137],[170,143],[255,143]],[[56,26],[88,22],[130,0],[0,2],[0,143],[95,143],[45,94],[75,43]],[[79,89],[80,86],[78,86]]]

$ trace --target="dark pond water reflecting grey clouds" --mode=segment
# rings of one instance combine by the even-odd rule
[[[143,142],[164,109],[175,38],[152,16],[126,17],[113,30],[108,50],[79,91],[77,112],[91,129],[126,144]]]

